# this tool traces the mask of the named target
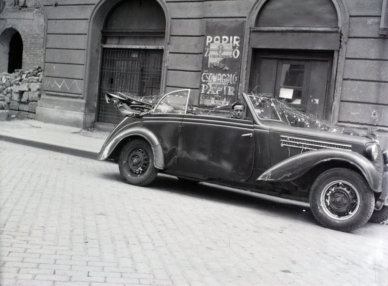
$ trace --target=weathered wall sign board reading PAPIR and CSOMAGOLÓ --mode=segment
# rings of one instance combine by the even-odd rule
[[[244,21],[206,23],[199,106],[215,107],[236,101],[244,24]]]

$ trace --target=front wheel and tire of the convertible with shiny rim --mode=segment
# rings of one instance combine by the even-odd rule
[[[346,168],[323,172],[310,191],[310,207],[318,222],[336,231],[362,227],[374,210],[374,194],[364,177]]]

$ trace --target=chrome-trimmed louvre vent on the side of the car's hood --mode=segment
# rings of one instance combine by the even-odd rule
[[[305,150],[319,150],[319,149],[345,149],[352,150],[352,145],[308,140],[303,138],[289,137],[289,136],[280,136],[281,147],[294,147]]]

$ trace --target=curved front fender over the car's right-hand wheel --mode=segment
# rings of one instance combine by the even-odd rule
[[[381,191],[379,174],[371,161],[364,156],[347,150],[320,149],[292,156],[277,163],[262,173],[256,180],[287,182],[299,178],[314,166],[325,161],[345,161],[364,175],[374,192]]]

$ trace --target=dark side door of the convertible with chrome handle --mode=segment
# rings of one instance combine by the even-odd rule
[[[248,180],[255,159],[253,122],[230,118],[231,106],[208,111],[189,104],[187,109],[180,129],[177,173],[200,179]]]

